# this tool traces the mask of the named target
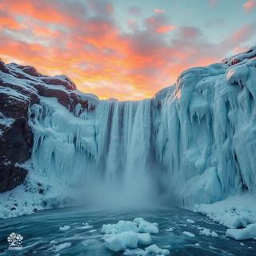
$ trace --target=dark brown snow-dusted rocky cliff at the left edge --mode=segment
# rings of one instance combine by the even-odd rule
[[[81,110],[94,109],[70,78],[44,76],[32,66],[0,60],[0,192],[12,190],[26,178],[22,163],[31,157],[34,138],[28,117],[40,96],[55,97],[70,111],[78,104]]]

